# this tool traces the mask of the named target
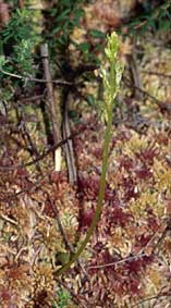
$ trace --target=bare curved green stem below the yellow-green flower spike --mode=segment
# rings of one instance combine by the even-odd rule
[[[102,202],[103,202],[103,196],[105,196],[105,186],[106,186],[106,175],[107,175],[107,169],[108,169],[108,152],[109,152],[109,144],[111,139],[111,127],[112,127],[112,103],[110,104],[110,111],[108,112],[108,123],[107,123],[107,128],[105,133],[105,145],[103,145],[103,155],[102,155],[102,171],[101,171],[101,177],[100,177],[100,188],[99,188],[99,195],[98,195],[98,202],[97,202],[97,208],[91,221],[91,224],[89,226],[89,230],[86,234],[85,239],[82,242],[78,250],[75,252],[75,255],[71,258],[71,260],[60,270],[54,272],[54,275],[61,275],[68,269],[70,269],[71,264],[74,263],[83,250],[85,249],[87,243],[89,242],[95,227],[100,219],[101,214],[101,209],[102,209]]]

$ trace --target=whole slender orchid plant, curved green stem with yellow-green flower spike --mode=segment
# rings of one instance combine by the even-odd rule
[[[85,236],[85,239],[82,242],[78,250],[75,255],[72,256],[71,260],[60,270],[54,271],[54,275],[63,274],[72,263],[74,263],[83,250],[85,249],[87,243],[89,242],[97,223],[99,222],[103,196],[105,196],[105,186],[106,186],[106,175],[108,169],[108,152],[109,152],[109,145],[111,139],[111,128],[112,128],[112,108],[114,104],[114,98],[120,89],[120,82],[123,72],[123,65],[118,61],[117,54],[119,50],[119,39],[115,33],[112,33],[111,36],[108,36],[107,48],[106,48],[106,57],[109,63],[109,71],[101,67],[101,76],[103,79],[103,85],[106,89],[106,97],[105,97],[105,115],[107,119],[107,128],[105,133],[105,145],[103,145],[103,153],[102,153],[102,171],[100,176],[100,188],[98,195],[98,202],[97,208],[91,221],[91,224],[88,229],[88,232]]]

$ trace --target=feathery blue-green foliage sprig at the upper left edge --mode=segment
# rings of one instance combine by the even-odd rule
[[[36,36],[30,20],[28,10],[15,10],[1,32],[1,70],[20,75],[33,72]]]

